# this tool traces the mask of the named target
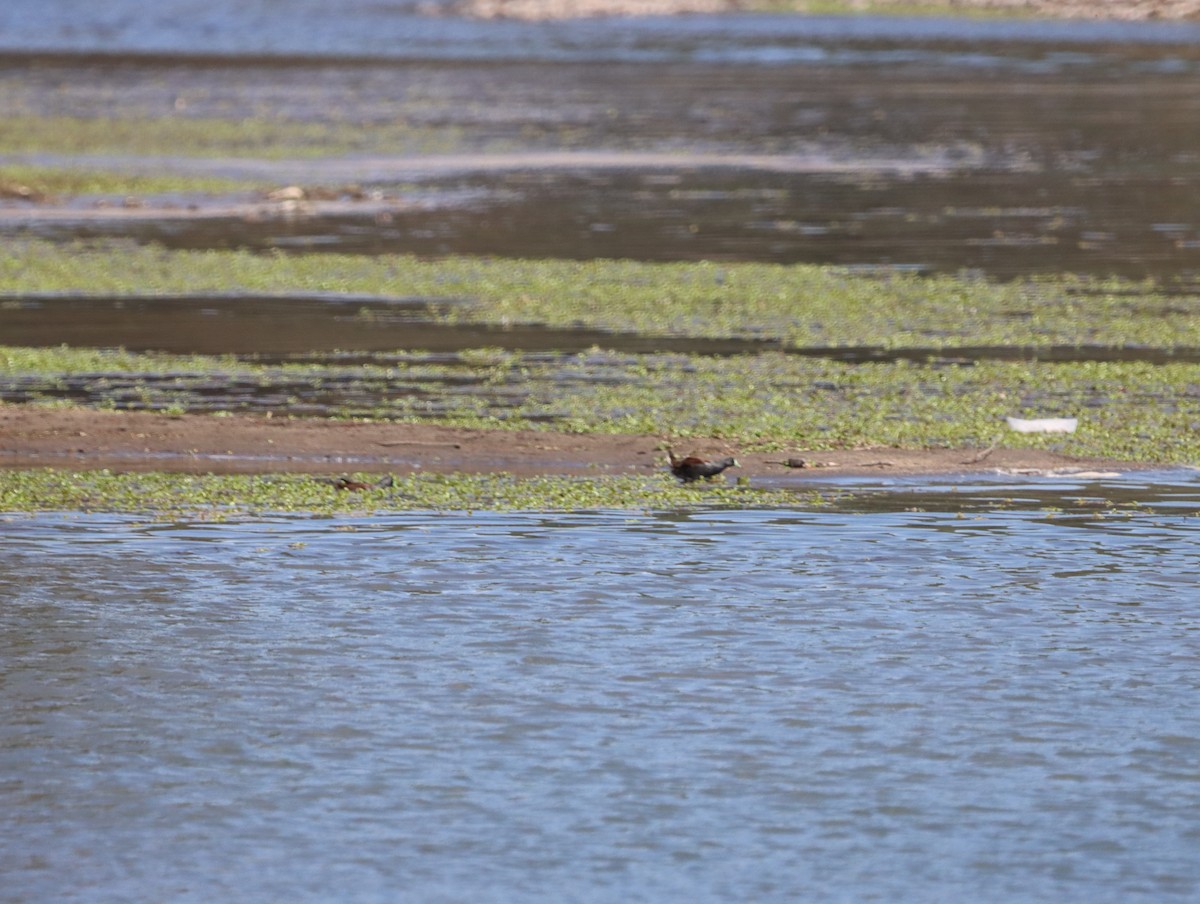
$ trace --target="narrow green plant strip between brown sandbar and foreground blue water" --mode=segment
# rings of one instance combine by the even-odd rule
[[[374,477],[365,477],[373,480]],[[148,513],[157,519],[388,511],[667,510],[822,505],[811,491],[738,484],[682,486],[668,475],[516,478],[509,474],[397,477],[385,490],[343,492],[305,474],[229,475],[0,469],[0,511]]]

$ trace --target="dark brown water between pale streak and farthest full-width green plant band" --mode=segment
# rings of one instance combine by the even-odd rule
[[[1200,108],[1187,115],[1200,116]],[[647,176],[634,164],[598,170],[566,161],[554,170],[421,181],[446,196],[469,188],[476,200],[400,206],[383,218],[367,205],[332,214],[318,205],[284,217],[257,209],[202,217],[176,206],[137,217],[14,217],[8,227],[56,241],[128,238],[172,249],[871,263],[1001,279],[1200,273],[1200,178],[1190,161],[1157,173],[1074,178],[1058,168],[763,174],[676,155],[653,169]],[[275,181],[288,180],[281,173]]]

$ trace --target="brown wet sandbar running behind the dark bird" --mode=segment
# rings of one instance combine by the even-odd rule
[[[1153,466],[1036,449],[786,449],[746,451],[721,439],[504,431],[378,421],[166,415],[0,406],[0,467],[173,473],[511,473],[601,477],[666,469],[665,444],[736,455],[748,478],[1040,474]],[[806,467],[782,462],[803,460]]]

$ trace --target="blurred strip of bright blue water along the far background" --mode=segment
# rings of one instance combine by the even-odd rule
[[[1200,24],[1189,22],[726,14],[524,23],[420,12],[420,7],[434,6],[374,0],[161,0],[148,7],[143,0],[6,0],[0,5],[0,52],[754,65],[944,60],[954,66],[1034,72],[1124,55],[1116,44],[1200,42]],[[995,43],[964,47],[978,42]],[[1013,54],[1012,47],[1004,47],[1009,42],[1043,49],[1033,55]],[[1066,49],[1054,50],[1055,46]],[[1194,66],[1189,58],[1177,64]]]

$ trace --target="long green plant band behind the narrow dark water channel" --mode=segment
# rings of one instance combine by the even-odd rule
[[[7,243],[0,295],[346,292],[469,299],[445,322],[743,337],[788,347],[1200,348],[1200,287],[1075,276],[1007,283],[757,263],[167,251]]]

